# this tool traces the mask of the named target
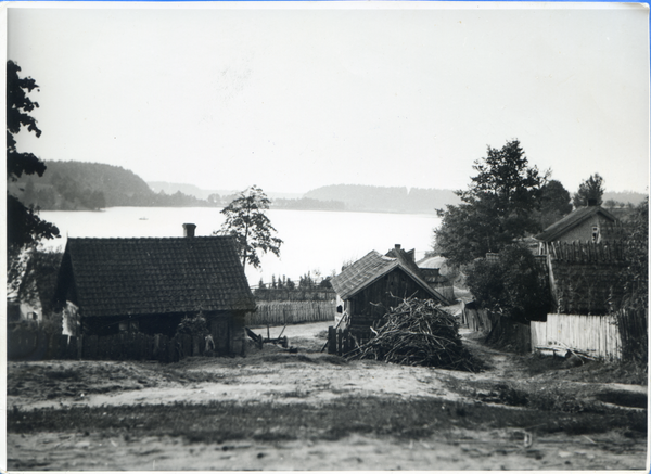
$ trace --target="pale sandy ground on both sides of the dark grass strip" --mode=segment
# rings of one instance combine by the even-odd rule
[[[328,325],[288,326],[284,334],[291,345],[299,347],[298,354],[291,357],[281,348],[265,346],[261,351],[254,349],[245,359],[191,359],[174,364],[171,370],[162,370],[155,362],[10,362],[7,408],[215,400],[319,406],[343,395],[462,400],[464,395],[450,388],[455,385],[450,381],[522,377],[512,356],[487,348],[483,355],[489,359],[492,369],[478,374],[374,361],[345,362],[318,353],[323,343],[319,334]],[[271,337],[280,331],[281,328],[272,328]],[[256,332],[266,335],[266,329]],[[474,344],[472,338],[467,338],[467,343]],[[65,374],[72,370],[81,375],[66,380]],[[591,393],[599,388],[599,384],[584,385],[589,385]],[[616,388],[647,393],[646,386],[623,384]],[[28,436],[10,433],[7,449],[10,467],[39,471],[643,470],[648,466],[646,439],[631,439],[615,432],[527,436],[533,437],[526,438],[522,430],[513,428],[458,431],[444,439],[432,436],[418,441],[354,435],[337,441],[242,440],[208,445],[171,437],[131,439],[84,433]]]

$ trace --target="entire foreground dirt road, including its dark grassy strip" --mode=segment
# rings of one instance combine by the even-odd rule
[[[471,334],[465,343],[488,363],[483,373],[348,362],[318,351],[327,326],[286,328],[298,354],[265,346],[261,351],[252,347],[246,358],[170,366],[10,362],[8,466],[647,466],[646,410],[640,408],[647,386],[604,383],[603,374],[593,375],[603,372],[598,367],[560,364],[532,374],[526,358],[486,348]],[[271,336],[280,330],[270,329]],[[626,382],[621,374],[618,380]]]

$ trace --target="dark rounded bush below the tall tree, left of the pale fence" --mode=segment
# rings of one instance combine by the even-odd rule
[[[525,247],[507,246],[495,261],[475,260],[465,281],[483,308],[515,321],[544,320],[552,308],[547,276]]]

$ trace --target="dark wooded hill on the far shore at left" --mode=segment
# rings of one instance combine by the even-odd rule
[[[115,206],[208,206],[180,192],[155,193],[142,178],[119,166],[86,162],[46,162],[42,177],[22,176],[9,191],[43,210],[100,209]]]

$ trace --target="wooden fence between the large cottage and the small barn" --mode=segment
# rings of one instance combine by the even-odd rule
[[[334,320],[334,302],[257,302],[245,325],[283,325]]]

